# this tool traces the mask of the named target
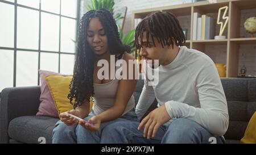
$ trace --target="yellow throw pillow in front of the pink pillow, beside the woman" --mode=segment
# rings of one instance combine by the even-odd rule
[[[73,109],[73,105],[68,99],[69,85],[72,76],[46,76],[46,82],[51,91],[52,99],[55,103],[57,111],[60,115],[61,112],[69,111]],[[90,102],[90,110],[92,109],[92,101]]]

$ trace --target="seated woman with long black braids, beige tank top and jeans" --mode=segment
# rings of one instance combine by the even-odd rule
[[[78,49],[68,98],[74,109],[60,114],[53,129],[53,143],[101,143],[104,128],[113,122],[137,121],[133,91],[136,79],[111,77],[110,72],[129,70],[128,66],[111,68],[110,61],[134,60],[130,48],[119,39],[115,20],[106,9],[86,12],[80,20]],[[114,56],[114,59],[113,59]],[[108,62],[109,73],[103,72],[98,62]],[[135,67],[135,66],[133,66]],[[111,70],[113,69],[113,70]],[[127,74],[129,74],[127,72]],[[89,113],[90,98],[93,108]],[[83,118],[78,121],[71,115]],[[111,133],[108,133],[111,134]]]

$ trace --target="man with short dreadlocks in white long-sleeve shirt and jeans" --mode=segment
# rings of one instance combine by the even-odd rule
[[[214,62],[203,52],[182,46],[185,37],[170,12],[153,12],[136,28],[135,44],[144,57],[144,73],[158,70],[155,85],[144,87],[136,107],[143,118],[154,99],[158,108],[141,123],[117,122],[105,128],[104,143],[222,143],[229,115]],[[158,66],[150,61],[159,61]]]

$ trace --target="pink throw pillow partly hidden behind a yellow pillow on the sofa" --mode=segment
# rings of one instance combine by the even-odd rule
[[[49,87],[46,82],[46,76],[48,75],[58,75],[61,76],[62,74],[56,72],[50,72],[47,70],[39,69],[40,79],[41,79],[41,95],[40,95],[40,105],[38,108],[38,113],[36,115],[43,115],[43,116],[52,116],[55,118],[59,118],[58,111],[55,107],[53,102],[51,93],[49,91]]]

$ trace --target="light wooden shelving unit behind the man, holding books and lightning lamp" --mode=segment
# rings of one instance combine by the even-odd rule
[[[192,40],[193,12],[199,12],[200,14],[207,15],[217,15],[218,9],[223,6],[229,7],[229,23],[228,26],[225,28],[223,34],[226,36],[226,39]],[[201,1],[195,3],[186,3],[183,5],[156,7],[154,9],[135,10],[133,11],[131,21],[132,26],[134,27],[135,18],[144,18],[151,12],[159,10],[170,11],[173,14],[175,14],[177,18],[179,18],[179,16],[187,16],[187,19],[190,20],[191,25],[187,32],[189,33],[189,38],[188,40],[186,40],[185,45],[189,48],[198,49],[202,52],[205,52],[205,49],[208,45],[222,45],[222,47],[226,48],[223,49],[226,51],[226,77],[237,77],[240,45],[256,45],[255,37],[240,36],[241,11],[246,9],[256,9],[256,0],[217,0],[216,3],[210,3],[209,1]],[[216,35],[218,35],[218,32],[219,31],[216,32]]]

